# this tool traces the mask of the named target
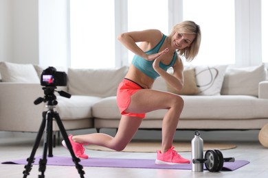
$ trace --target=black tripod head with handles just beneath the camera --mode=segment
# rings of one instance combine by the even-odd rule
[[[56,101],[56,95],[54,94],[54,91],[58,92],[58,94],[60,94],[61,97],[65,97],[65,98],[71,98],[71,94],[63,91],[63,90],[60,90],[60,91],[57,91],[55,90],[57,87],[56,86],[45,86],[43,87],[42,89],[44,90],[44,94],[45,94],[45,97],[38,97],[38,99],[36,99],[34,101],[34,104],[35,105],[38,105],[42,102],[44,103],[47,103],[48,106],[54,106],[54,105],[57,105],[58,104],[58,101]]]

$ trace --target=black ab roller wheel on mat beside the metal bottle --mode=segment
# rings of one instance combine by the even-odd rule
[[[219,149],[208,150],[205,152],[205,168],[210,172],[219,172],[223,168],[223,162],[234,162],[234,157],[223,157]]]

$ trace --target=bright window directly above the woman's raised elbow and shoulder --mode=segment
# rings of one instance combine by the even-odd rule
[[[166,0],[129,0],[128,31],[159,29],[165,35],[168,31],[168,1]],[[134,53],[129,51],[129,63]]]

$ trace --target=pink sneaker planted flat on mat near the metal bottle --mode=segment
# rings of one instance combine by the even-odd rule
[[[157,160],[155,164],[190,164],[190,160],[187,160],[174,150],[174,147],[171,147],[166,153],[161,153],[157,151]]]

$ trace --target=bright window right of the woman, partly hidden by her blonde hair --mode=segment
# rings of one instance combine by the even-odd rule
[[[190,64],[235,63],[233,0],[185,0],[183,21],[186,20],[200,25],[202,33],[199,54]]]

